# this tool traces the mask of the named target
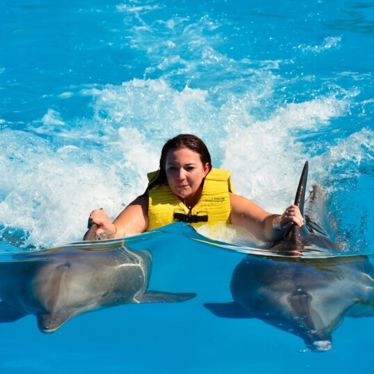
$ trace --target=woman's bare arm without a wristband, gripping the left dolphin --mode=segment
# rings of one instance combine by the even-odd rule
[[[148,196],[139,196],[112,222],[102,209],[93,211],[89,216],[98,224],[96,235],[108,235],[110,238],[143,233],[148,227]]]

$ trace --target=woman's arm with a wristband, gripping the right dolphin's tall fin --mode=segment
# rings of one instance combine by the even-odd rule
[[[256,238],[265,242],[282,238],[283,233],[292,225],[303,225],[303,216],[295,205],[289,206],[283,215],[279,216],[264,211],[251,200],[240,195],[230,194],[231,224],[244,227]]]

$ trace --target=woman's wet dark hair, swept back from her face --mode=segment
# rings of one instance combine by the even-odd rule
[[[196,152],[200,155],[200,159],[202,160],[202,164],[206,165],[209,164],[209,169],[212,168],[212,161],[211,161],[211,154],[208,151],[204,141],[199,139],[195,135],[191,134],[179,134],[175,136],[175,138],[169,139],[164,145],[161,150],[161,157],[160,157],[160,166],[159,172],[157,172],[156,176],[150,184],[148,185],[147,190],[145,193],[153,188],[154,186],[160,186],[161,184],[168,184],[168,179],[166,178],[166,156],[170,150],[180,150],[182,148],[188,148],[193,152]]]

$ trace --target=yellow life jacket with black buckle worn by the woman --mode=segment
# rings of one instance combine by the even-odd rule
[[[150,172],[152,181],[157,172]],[[168,185],[155,186],[149,191],[148,228],[158,229],[172,222],[187,222],[197,228],[202,224],[209,226],[224,222],[230,223],[230,193],[235,193],[231,185],[231,172],[212,168],[205,177],[202,197],[190,211],[187,206],[172,193]]]

